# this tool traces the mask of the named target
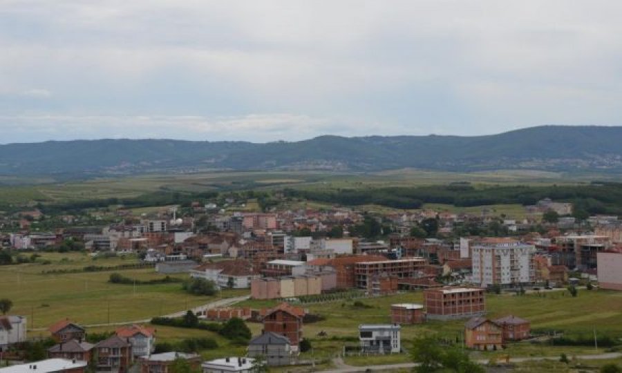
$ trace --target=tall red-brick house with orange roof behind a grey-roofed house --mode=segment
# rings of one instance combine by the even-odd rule
[[[292,350],[298,351],[298,344],[302,340],[303,317],[305,312],[299,307],[292,307],[288,303],[262,311],[264,332],[273,332],[287,337],[292,344]]]

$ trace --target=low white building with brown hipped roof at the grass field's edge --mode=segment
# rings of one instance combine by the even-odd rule
[[[234,259],[206,263],[190,271],[192,278],[211,280],[220,288],[248,289],[259,278],[248,260]]]

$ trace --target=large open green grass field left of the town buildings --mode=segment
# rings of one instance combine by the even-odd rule
[[[0,267],[0,296],[13,301],[13,314],[28,317],[30,329],[48,327],[67,317],[84,325],[135,321],[196,307],[216,298],[188,295],[182,291],[180,283],[137,285],[135,289],[132,285],[111,284],[108,280],[112,271],[41,274],[50,269],[135,262],[131,257],[93,260],[80,253],[42,255],[39,263]],[[41,265],[41,260],[50,260],[52,264]],[[154,269],[123,270],[122,274],[140,280],[164,277]],[[245,292],[223,291],[222,296],[238,296]]]

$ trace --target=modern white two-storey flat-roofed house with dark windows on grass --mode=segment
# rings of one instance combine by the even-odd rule
[[[393,354],[402,351],[401,327],[397,324],[359,325],[361,352]]]

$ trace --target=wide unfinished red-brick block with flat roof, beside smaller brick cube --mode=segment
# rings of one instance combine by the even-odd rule
[[[447,320],[486,313],[484,289],[441,287],[424,290],[426,318]]]

